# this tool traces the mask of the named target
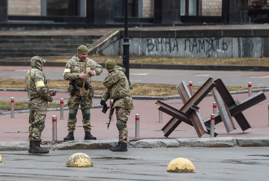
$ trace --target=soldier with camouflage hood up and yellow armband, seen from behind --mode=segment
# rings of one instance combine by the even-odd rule
[[[39,56],[31,59],[32,69],[25,74],[25,83],[28,93],[28,107],[30,109],[29,116],[29,138],[30,153],[48,153],[49,150],[44,150],[40,147],[41,132],[45,128],[46,112],[48,102],[52,102],[45,74],[42,71],[43,63],[46,60]]]

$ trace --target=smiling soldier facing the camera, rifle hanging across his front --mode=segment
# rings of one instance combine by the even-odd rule
[[[86,71],[84,70],[86,64]],[[85,74],[84,74],[85,72]],[[83,93],[84,103],[87,109],[85,109],[83,103],[80,101],[80,96],[77,92],[71,95],[71,91],[74,88],[73,85],[68,86],[69,98],[68,98],[68,135],[64,140],[74,140],[74,131],[77,123],[77,111],[80,105],[82,111],[82,125],[84,128],[85,136],[84,140],[96,140],[96,137],[91,135],[91,117],[90,109],[92,106],[92,97],[94,96],[94,87],[91,85],[91,77],[95,75],[100,75],[103,72],[103,67],[94,60],[88,58],[88,49],[84,45],[80,45],[77,48],[77,54],[73,56],[65,65],[65,70],[63,73],[63,78],[65,80],[75,80],[78,87]],[[83,80],[85,79],[84,90]]]

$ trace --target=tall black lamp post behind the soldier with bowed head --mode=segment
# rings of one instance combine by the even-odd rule
[[[130,89],[133,89],[129,80],[129,37],[128,37],[128,0],[124,0],[124,38],[123,38],[123,64],[125,65],[125,75],[129,82]]]

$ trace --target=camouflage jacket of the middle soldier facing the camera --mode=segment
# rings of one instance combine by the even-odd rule
[[[86,74],[88,77],[85,79],[85,83],[88,82],[91,85],[91,75],[88,73],[91,70],[96,71],[96,75],[100,75],[103,72],[103,67],[96,63],[94,60],[87,58],[85,61],[80,59],[78,54],[73,56],[65,65],[65,71],[63,73],[63,78],[65,80],[75,80],[77,85],[83,85],[83,79],[80,78],[79,74],[84,73],[84,66],[86,64]],[[68,90],[72,90],[73,85],[69,85]]]

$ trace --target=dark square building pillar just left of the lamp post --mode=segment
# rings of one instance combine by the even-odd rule
[[[110,24],[114,23],[113,0],[87,0],[87,23]]]

